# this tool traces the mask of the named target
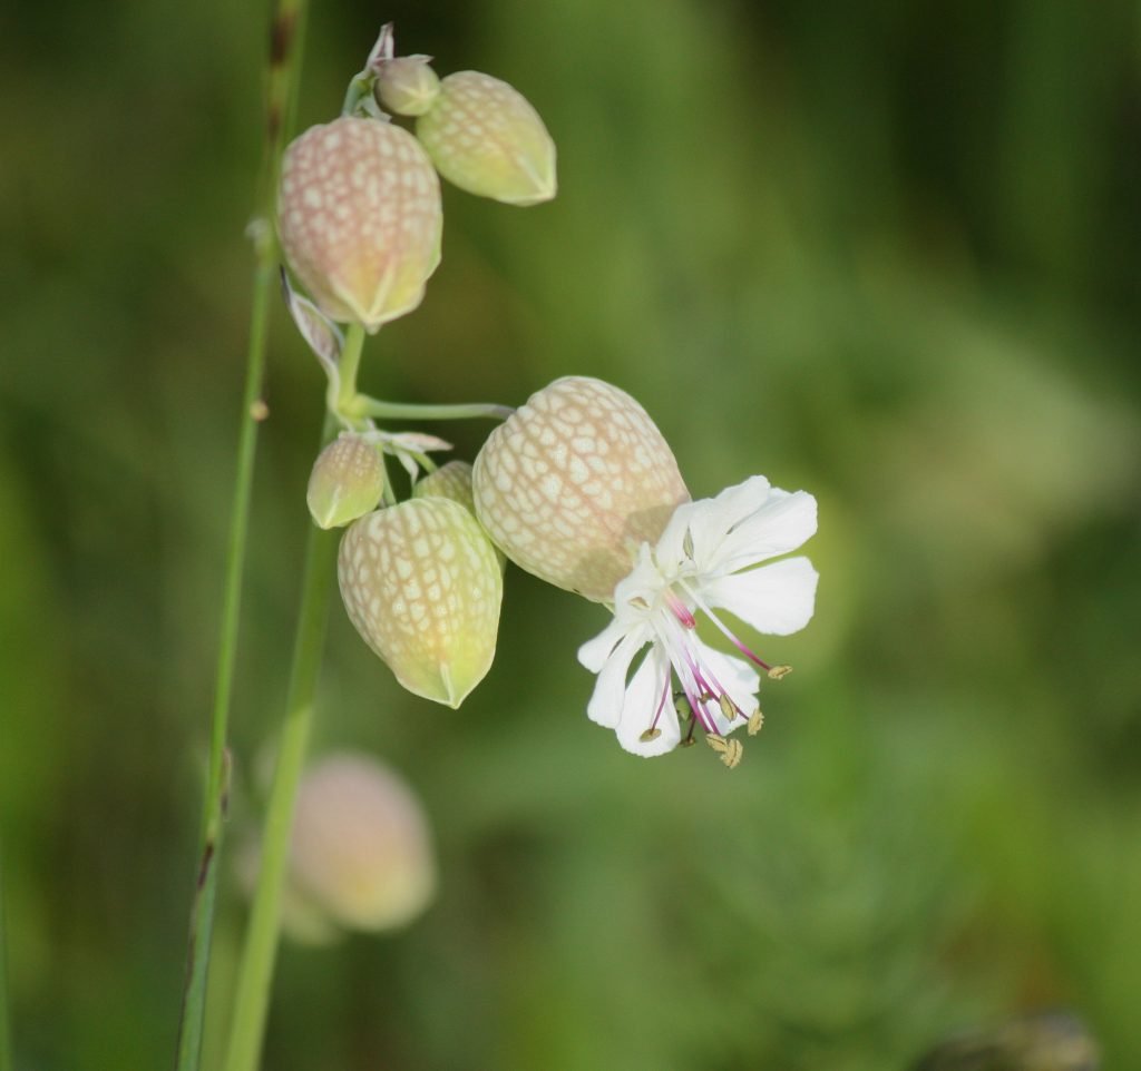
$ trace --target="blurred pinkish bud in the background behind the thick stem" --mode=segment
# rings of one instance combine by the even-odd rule
[[[253,887],[256,843],[237,860]],[[365,755],[326,755],[298,788],[282,922],[305,943],[342,930],[390,930],[415,918],[436,889],[428,821],[404,780]]]

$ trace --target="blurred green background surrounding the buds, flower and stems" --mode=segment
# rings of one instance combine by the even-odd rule
[[[18,1066],[173,1060],[250,299],[262,5],[0,33],[0,827]],[[907,1068],[1066,1007],[1141,1063],[1141,15],[1128,0],[322,3],[521,89],[525,211],[445,193],[402,400],[634,393],[695,496],[820,504],[817,615],[728,773],[591,725],[604,612],[510,570],[459,713],[334,607],[315,748],[385,756],[440,894],[285,947],[265,1065]],[[322,380],[275,310],[232,828],[281,716]],[[486,424],[442,432],[461,456]],[[230,838],[236,843],[236,837]],[[215,1065],[244,922],[219,906]]]

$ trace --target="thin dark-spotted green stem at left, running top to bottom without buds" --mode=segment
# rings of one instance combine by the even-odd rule
[[[218,859],[229,780],[229,753],[226,740],[233,696],[242,603],[242,576],[245,567],[253,461],[257,453],[259,427],[256,411],[265,379],[269,300],[276,289],[277,245],[269,220],[273,219],[277,177],[285,139],[293,128],[293,115],[297,111],[306,11],[306,0],[277,0],[273,13],[266,94],[266,137],[256,208],[259,224],[254,230],[257,262],[250,308],[249,350],[242,399],[242,425],[237,447],[237,472],[234,478],[234,497],[230,504],[218,662],[215,672],[210,762],[202,804],[197,879],[191,907],[186,982],[178,1030],[178,1071],[196,1071],[202,1055],[210,942],[213,935],[215,902],[218,894]]]

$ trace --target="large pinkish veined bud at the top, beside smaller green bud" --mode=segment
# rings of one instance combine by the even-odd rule
[[[377,331],[420,305],[443,227],[436,172],[399,127],[342,116],[310,127],[285,151],[282,249],[335,321]]]

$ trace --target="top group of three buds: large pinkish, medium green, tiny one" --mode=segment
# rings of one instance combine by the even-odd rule
[[[476,71],[440,80],[430,57],[393,52],[386,26],[345,113],[285,151],[277,205],[282,251],[317,307],[370,332],[416,308],[439,263],[437,171],[505,204],[550,201],[558,185],[555,143],[507,82]],[[414,130],[393,115],[414,117]]]

